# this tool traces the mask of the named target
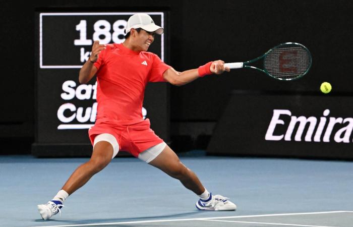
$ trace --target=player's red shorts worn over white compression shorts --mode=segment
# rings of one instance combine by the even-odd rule
[[[163,140],[150,128],[149,119],[138,121],[107,121],[97,120],[88,130],[92,146],[94,138],[102,133],[113,135],[119,144],[119,150],[127,151],[138,157],[139,154]]]

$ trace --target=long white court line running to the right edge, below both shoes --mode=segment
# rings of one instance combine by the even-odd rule
[[[261,215],[226,216],[226,217],[205,217],[205,218],[201,217],[201,218],[186,218],[186,219],[124,221],[124,222],[94,223],[94,224],[41,225],[41,226],[33,226],[33,227],[98,226],[98,225],[110,225],[110,224],[136,224],[136,223],[152,223],[152,222],[168,222],[168,221],[211,220],[211,219],[221,219],[221,218],[269,217],[269,216],[324,214],[324,213],[344,213],[344,212],[353,212],[353,211],[324,211],[324,212],[308,212],[308,213],[279,213],[279,214],[261,214]]]

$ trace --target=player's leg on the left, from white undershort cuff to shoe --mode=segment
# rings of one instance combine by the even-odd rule
[[[85,185],[88,180],[101,171],[119,151],[119,144],[111,134],[100,134],[96,136],[93,144],[91,158],[86,163],[80,165],[70,176],[52,200],[46,204],[38,205],[40,215],[44,220],[61,212],[63,203],[69,195]]]

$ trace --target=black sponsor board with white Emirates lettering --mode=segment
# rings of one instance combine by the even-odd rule
[[[353,98],[234,92],[209,154],[353,158]]]

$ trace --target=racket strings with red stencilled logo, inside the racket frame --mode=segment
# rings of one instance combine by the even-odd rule
[[[293,79],[310,67],[310,53],[297,44],[284,44],[272,49],[264,59],[264,69],[278,79]]]

